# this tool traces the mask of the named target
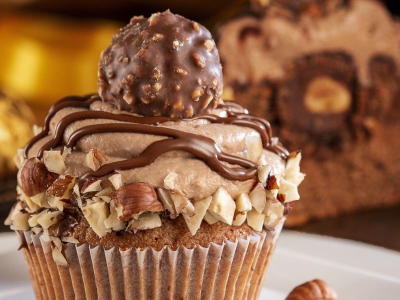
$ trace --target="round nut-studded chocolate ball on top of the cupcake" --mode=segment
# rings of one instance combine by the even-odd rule
[[[133,17],[100,57],[98,93],[144,116],[209,113],[222,93],[222,69],[210,32],[166,10]]]

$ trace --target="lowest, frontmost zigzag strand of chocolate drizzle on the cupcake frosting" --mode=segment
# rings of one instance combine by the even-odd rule
[[[221,176],[231,180],[247,180],[256,175],[258,164],[251,160],[221,152],[215,142],[197,134],[187,133],[180,130],[160,126],[143,124],[103,124],[90,125],[76,130],[68,140],[67,147],[73,146],[75,142],[84,135],[100,132],[138,132],[145,134],[163,135],[173,138],[158,140],[150,144],[141,154],[132,159],[120,160],[102,165],[96,171],[83,174],[80,180],[90,177],[101,177],[115,169],[125,170],[142,167],[152,163],[157,157],[168,151],[184,150],[202,159],[212,170]],[[220,160],[231,164],[238,164],[243,168],[227,167]]]

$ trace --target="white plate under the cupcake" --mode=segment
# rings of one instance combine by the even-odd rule
[[[33,299],[14,233],[0,234],[0,299]],[[282,300],[295,286],[320,278],[340,300],[399,299],[400,253],[344,239],[283,231],[259,299]]]

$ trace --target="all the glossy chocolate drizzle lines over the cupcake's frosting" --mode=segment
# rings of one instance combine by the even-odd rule
[[[25,157],[27,158],[31,146],[48,134],[50,120],[59,109],[65,107],[89,108],[90,104],[96,100],[99,100],[98,96],[88,95],[84,97],[67,97],[55,103],[50,108],[49,113],[45,118],[43,131],[26,144],[24,148]],[[243,110],[236,103],[220,104],[218,108],[226,110],[227,117],[220,117],[213,114],[197,114],[189,118],[173,118],[167,116],[142,117],[131,114],[114,114],[111,112],[94,110],[73,112],[63,117],[58,122],[54,136],[39,149],[37,157],[41,158],[45,150],[61,145],[65,128],[69,124],[82,119],[110,119],[123,121],[125,123],[102,123],[81,127],[69,136],[68,141],[65,143],[66,147],[73,148],[76,142],[83,136],[104,132],[134,132],[165,136],[167,138],[153,142],[142,153],[134,158],[107,163],[95,171],[89,171],[82,174],[79,178],[79,183],[81,184],[91,177],[101,177],[116,169],[125,170],[148,165],[160,155],[173,150],[184,150],[190,152],[194,156],[202,159],[212,170],[227,179],[244,181],[251,179],[256,175],[257,163],[246,158],[222,152],[216,143],[208,137],[172,128],[156,126],[166,121],[206,119],[212,123],[234,124],[250,127],[260,134],[265,149],[277,153],[282,158],[287,157],[288,152],[285,148],[281,145],[271,144],[272,132],[268,121],[251,116],[245,112],[233,111],[233,109]],[[229,167],[221,163],[221,161],[238,165],[239,167]]]

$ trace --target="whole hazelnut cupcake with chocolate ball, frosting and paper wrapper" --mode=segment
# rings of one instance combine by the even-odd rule
[[[20,236],[38,299],[253,299],[301,154],[221,99],[207,29],[133,17],[101,53],[98,94],[69,96],[18,151]]]

